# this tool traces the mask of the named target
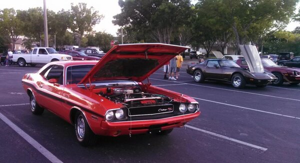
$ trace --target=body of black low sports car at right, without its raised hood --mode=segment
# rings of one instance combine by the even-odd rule
[[[228,59],[207,59],[196,65],[188,65],[186,72],[193,76],[195,82],[220,80],[230,82],[234,88],[243,88],[246,84],[265,87],[276,79],[270,72],[251,73]]]

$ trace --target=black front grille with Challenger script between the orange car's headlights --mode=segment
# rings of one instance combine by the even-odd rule
[[[128,116],[148,116],[156,114],[165,114],[173,112],[173,105],[152,105],[152,106],[142,106],[142,107],[131,107],[129,108]]]

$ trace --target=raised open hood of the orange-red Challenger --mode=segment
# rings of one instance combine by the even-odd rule
[[[83,77],[79,84],[98,80],[141,82],[186,49],[188,47],[162,43],[115,45]]]

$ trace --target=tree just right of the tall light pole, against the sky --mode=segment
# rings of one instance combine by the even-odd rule
[[[103,15],[94,11],[93,7],[87,8],[86,3],[71,4],[70,18],[72,20],[70,29],[76,37],[76,42],[80,46],[81,38],[86,32],[91,32],[92,27],[99,23]]]

